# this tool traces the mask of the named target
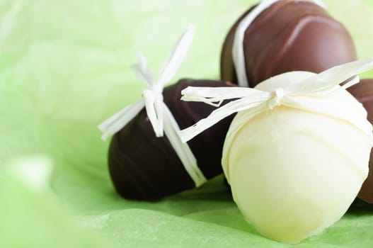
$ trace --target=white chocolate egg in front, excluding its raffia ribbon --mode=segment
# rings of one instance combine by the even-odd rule
[[[274,91],[313,75],[289,72],[256,89]],[[327,97],[348,106],[346,111],[362,123],[367,121],[365,109],[345,89]],[[319,104],[309,96],[306,101]],[[231,123],[222,158],[234,201],[246,220],[263,236],[287,243],[333,225],[367,177],[372,133],[330,115],[288,106],[275,106],[247,121],[246,112]]]

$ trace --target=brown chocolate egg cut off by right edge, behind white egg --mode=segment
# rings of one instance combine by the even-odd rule
[[[348,91],[355,96],[368,112],[368,120],[373,124],[373,79],[362,79],[359,84],[348,88]],[[358,197],[367,203],[373,203],[373,150],[370,152],[369,174]]]

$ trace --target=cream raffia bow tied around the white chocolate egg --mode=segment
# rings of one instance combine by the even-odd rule
[[[361,113],[355,113],[348,103],[328,98],[328,95],[335,91],[357,84],[359,78],[354,76],[369,69],[373,69],[373,58],[332,67],[320,74],[313,74],[311,77],[300,80],[297,84],[272,91],[243,87],[188,87],[181,91],[183,101],[200,101],[219,106],[224,100],[237,100],[212,111],[207,118],[181,130],[179,135],[183,142],[187,142],[232,113],[246,111],[245,121],[247,122],[259,113],[282,105],[347,121],[371,137],[372,125],[368,120],[362,120]],[[343,86],[339,86],[341,82],[351,77],[354,78]]]

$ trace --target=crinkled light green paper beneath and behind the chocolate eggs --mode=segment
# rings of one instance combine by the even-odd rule
[[[373,247],[372,207],[357,206],[322,235],[289,246],[243,220],[222,177],[159,203],[113,191],[108,142],[96,125],[139,98],[142,83],[130,69],[136,52],[157,70],[194,23],[175,81],[217,78],[224,36],[255,2],[0,1],[0,247]],[[373,57],[373,1],[325,2],[359,58]],[[45,191],[4,169],[35,154],[42,159],[22,163],[54,164]]]

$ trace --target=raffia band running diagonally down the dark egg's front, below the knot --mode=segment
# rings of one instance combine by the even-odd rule
[[[207,179],[198,167],[197,159],[195,159],[195,156],[192,150],[190,150],[188,144],[183,143],[180,140],[180,137],[178,136],[178,131],[180,131],[180,128],[178,127],[178,123],[176,123],[175,118],[173,117],[171,111],[167,108],[166,104],[164,104],[163,110],[165,112],[164,132],[166,133],[168,141],[171,143],[173,150],[175,150],[176,154],[178,154],[180,161],[185,167],[185,170],[195,182],[195,186],[199,187],[202,184],[205,184]]]

